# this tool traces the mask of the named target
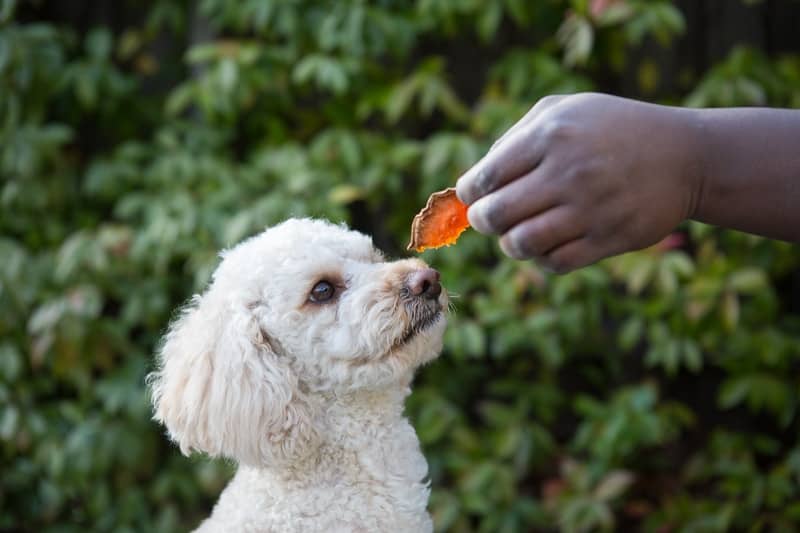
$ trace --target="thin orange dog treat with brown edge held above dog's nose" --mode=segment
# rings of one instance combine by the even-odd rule
[[[456,197],[454,187],[433,193],[425,208],[411,223],[409,250],[449,246],[469,227],[467,206]]]

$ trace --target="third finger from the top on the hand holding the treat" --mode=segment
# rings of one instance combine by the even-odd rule
[[[534,258],[538,261],[585,235],[586,228],[576,216],[575,208],[559,206],[509,229],[500,238],[500,248],[514,259]]]

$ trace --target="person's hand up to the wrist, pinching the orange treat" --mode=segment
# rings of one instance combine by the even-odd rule
[[[563,273],[654,244],[699,189],[694,111],[603,94],[540,100],[456,184],[470,224]]]

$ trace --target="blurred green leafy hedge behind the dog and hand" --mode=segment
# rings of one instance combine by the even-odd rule
[[[0,0],[0,531],[209,513],[234,467],[182,457],[144,377],[221,248],[310,215],[407,255],[540,97],[800,107],[799,31],[796,1]],[[796,246],[423,258],[455,294],[408,402],[438,531],[800,530]]]

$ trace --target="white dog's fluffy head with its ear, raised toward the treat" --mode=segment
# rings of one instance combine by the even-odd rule
[[[405,387],[441,350],[438,273],[386,262],[365,235],[291,219],[222,257],[149,378],[155,418],[184,453],[296,460],[319,439],[315,395]]]

